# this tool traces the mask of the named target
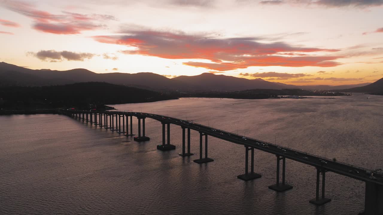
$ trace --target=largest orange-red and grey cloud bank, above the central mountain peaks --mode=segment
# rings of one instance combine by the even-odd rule
[[[284,42],[262,43],[256,38],[218,39],[182,32],[124,31],[125,36],[94,36],[98,42],[134,47],[124,54],[139,54],[165,59],[205,59],[214,63],[185,62],[184,65],[204,67],[216,71],[234,70],[251,66],[334,67],[340,56],[316,56],[304,53],[338,52],[339,49],[299,47]],[[302,53],[304,52],[304,53]],[[281,56],[288,53],[293,57]]]

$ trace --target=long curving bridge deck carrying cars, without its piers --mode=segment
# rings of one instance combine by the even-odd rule
[[[97,111],[100,112],[100,111]],[[354,165],[349,165],[346,163],[341,163],[338,161],[332,161],[331,159],[322,158],[320,156],[311,155],[309,153],[305,153],[298,150],[293,150],[291,148],[286,148],[280,145],[268,143],[265,141],[257,140],[250,137],[245,137],[246,140],[242,139],[242,135],[233,134],[231,132],[227,132],[224,130],[219,130],[213,127],[208,127],[206,125],[197,124],[194,122],[185,121],[182,119],[177,119],[169,116],[162,116],[159,114],[149,114],[144,112],[121,112],[121,111],[105,111],[106,113],[116,113],[116,114],[128,114],[136,117],[147,117],[151,119],[155,119],[160,122],[167,122],[175,125],[180,125],[185,128],[190,128],[192,130],[196,130],[198,132],[202,132],[212,137],[216,137],[222,140],[226,140],[232,143],[247,145],[249,147],[253,147],[255,149],[265,151],[268,153],[272,153],[274,155],[280,155],[282,157],[298,161],[300,163],[304,163],[310,166],[314,166],[316,168],[326,169],[326,171],[331,171],[337,174],[341,174],[350,178],[354,178],[360,181],[365,182],[373,182],[376,184],[383,185],[383,175],[374,173],[374,177],[376,179],[370,179],[372,170],[368,170],[365,168],[361,168]],[[101,112],[104,113],[104,112]],[[266,147],[266,144],[268,147]],[[282,151],[282,149],[286,150],[286,153]],[[307,160],[304,157],[308,158]],[[327,162],[327,164],[323,164],[321,160]],[[358,172],[356,172],[356,171]]]

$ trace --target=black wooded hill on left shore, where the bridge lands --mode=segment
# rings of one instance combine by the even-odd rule
[[[93,109],[104,104],[143,103],[177,99],[177,96],[104,82],[42,87],[0,87],[0,109]]]

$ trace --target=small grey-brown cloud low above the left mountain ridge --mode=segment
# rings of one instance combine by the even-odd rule
[[[55,50],[41,50],[39,52],[28,52],[27,54],[37,57],[43,61],[50,60],[50,62],[61,62],[62,60],[84,61],[85,59],[91,59],[95,56],[95,54],[92,53],[76,53],[70,51],[57,52]]]

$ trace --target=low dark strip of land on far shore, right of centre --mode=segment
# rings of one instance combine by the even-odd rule
[[[202,98],[232,98],[232,99],[267,99],[277,98],[278,96],[344,96],[344,93],[327,92],[327,91],[309,91],[301,89],[283,89],[283,90],[270,90],[270,89],[254,89],[243,90],[234,92],[222,91],[206,91],[183,93],[182,97],[202,97]]]

